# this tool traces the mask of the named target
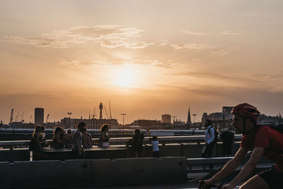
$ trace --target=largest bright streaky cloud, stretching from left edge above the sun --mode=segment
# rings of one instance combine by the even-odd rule
[[[56,30],[37,37],[4,36],[0,38],[0,41],[52,48],[73,47],[86,42],[97,42],[108,48],[125,47],[130,49],[141,49],[154,45],[154,43],[135,40],[135,38],[141,37],[141,32],[143,30],[124,25],[80,26],[69,30]]]

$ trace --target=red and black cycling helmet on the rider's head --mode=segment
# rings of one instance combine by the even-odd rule
[[[251,118],[255,122],[258,120],[258,115],[260,115],[258,109],[248,103],[241,103],[236,105],[231,111],[231,113],[237,113],[243,116],[243,118]]]

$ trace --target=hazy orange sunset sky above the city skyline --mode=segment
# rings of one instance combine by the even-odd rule
[[[283,1],[0,0],[0,120],[283,111]],[[14,118],[16,117],[14,116]],[[18,119],[19,120],[19,119]]]

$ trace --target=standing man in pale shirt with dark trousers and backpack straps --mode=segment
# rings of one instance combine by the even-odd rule
[[[205,127],[206,130],[204,132],[204,142],[205,146],[202,149],[202,157],[203,158],[209,158],[212,157],[212,151],[215,146],[214,138],[214,128],[211,126],[212,121],[211,120],[206,120],[205,121]]]

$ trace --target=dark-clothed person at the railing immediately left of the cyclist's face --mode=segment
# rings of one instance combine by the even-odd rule
[[[224,156],[230,157],[232,154],[232,140],[234,138],[233,132],[229,131],[227,128],[219,129],[219,135],[223,142]]]

